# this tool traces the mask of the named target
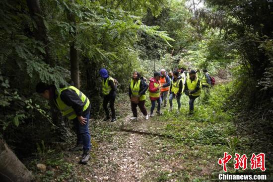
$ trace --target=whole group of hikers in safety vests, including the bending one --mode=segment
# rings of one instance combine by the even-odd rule
[[[210,77],[207,70],[203,70],[203,76],[199,79],[198,74],[200,70],[187,71],[184,69],[175,69],[173,72],[167,72],[161,69],[160,72],[155,72],[153,77],[147,80],[140,75],[139,72],[134,72],[132,80],[129,85],[129,97],[131,99],[131,107],[133,112],[132,120],[137,119],[137,106],[148,120],[148,112],[145,107],[146,91],[149,91],[149,99],[151,101],[150,117],[154,116],[154,109],[157,103],[158,115],[162,115],[162,109],[167,106],[167,98],[169,95],[169,111],[173,110],[172,100],[175,98],[178,104],[178,111],[181,108],[181,95],[184,92],[189,96],[189,114],[194,112],[194,101],[200,96],[201,89],[206,93],[211,86],[214,85],[214,78]],[[115,99],[117,91],[117,81],[109,76],[105,68],[100,69],[99,74],[102,78],[102,93],[103,93],[103,108],[106,114],[104,121],[116,121],[115,112]],[[73,121],[77,141],[76,146],[69,151],[83,150],[81,155],[80,164],[87,164],[90,159],[91,137],[88,129],[89,116],[90,116],[90,101],[88,97],[79,91],[76,87],[60,86],[56,88],[54,85],[45,83],[38,83],[36,92],[42,97],[53,100],[57,108],[62,112],[63,116]],[[111,109],[111,116],[108,109],[108,103]]]

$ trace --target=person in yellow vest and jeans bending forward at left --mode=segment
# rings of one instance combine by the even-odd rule
[[[73,121],[77,143],[70,151],[83,149],[79,163],[87,164],[91,149],[91,137],[88,129],[91,106],[88,97],[73,86],[60,86],[59,89],[56,89],[55,86],[49,86],[42,82],[37,84],[36,92],[48,100],[53,100],[63,116]]]

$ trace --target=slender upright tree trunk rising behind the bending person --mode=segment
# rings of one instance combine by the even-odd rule
[[[73,3],[74,0],[71,0],[71,3]],[[76,29],[76,20],[74,14],[72,14],[68,9],[67,9],[67,17],[70,23],[73,24],[73,32],[71,34],[73,37],[77,35],[77,29]],[[74,87],[79,89],[79,66],[78,66],[78,51],[75,49],[75,41],[74,38],[72,38],[72,41],[70,42],[70,76],[71,80],[74,83]]]

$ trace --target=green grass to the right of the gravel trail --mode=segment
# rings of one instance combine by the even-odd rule
[[[172,166],[173,169],[172,173],[168,173],[153,168],[143,177],[145,181],[211,181],[216,179],[218,173],[223,173],[217,161],[223,157],[224,152],[228,152],[233,158],[236,152],[250,157],[249,139],[237,136],[233,122],[235,111],[226,108],[225,103],[229,101],[228,96],[232,92],[230,87],[230,84],[219,85],[210,90],[207,98],[203,92],[195,101],[193,116],[188,115],[189,98],[183,95],[179,113],[176,109],[171,112],[163,109],[162,116],[151,119],[147,131],[171,135],[175,139],[160,139],[160,152],[150,159],[154,163],[149,167],[153,168],[153,165],[157,166],[158,161],[161,161],[161,165]],[[174,108],[177,108],[175,100],[173,103]],[[154,139],[150,142],[154,142]],[[229,162],[228,172],[235,172],[233,164],[234,161]],[[247,171],[251,171],[250,167]]]

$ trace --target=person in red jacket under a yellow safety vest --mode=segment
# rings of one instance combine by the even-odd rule
[[[161,85],[160,85],[160,73],[155,72],[153,74],[153,77],[150,78],[150,83],[149,83],[149,97],[151,100],[151,111],[150,111],[150,116],[153,117],[153,110],[155,108],[155,101],[157,102],[157,113],[158,114],[162,114],[161,112],[161,97],[160,97],[160,89],[161,89]]]

